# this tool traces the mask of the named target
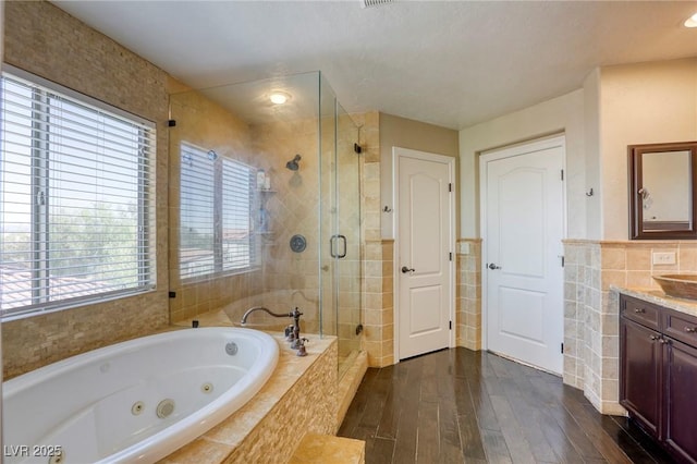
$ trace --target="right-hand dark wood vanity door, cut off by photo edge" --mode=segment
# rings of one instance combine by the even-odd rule
[[[667,340],[664,440],[681,462],[697,463],[697,349]]]

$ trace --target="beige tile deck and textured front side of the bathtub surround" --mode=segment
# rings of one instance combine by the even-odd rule
[[[196,316],[200,327],[230,326],[222,312]],[[191,326],[191,321],[182,321]],[[298,357],[284,338],[279,364],[261,390],[198,439],[161,460],[167,464],[286,463],[305,434],[338,429],[337,339],[306,335],[308,356]]]

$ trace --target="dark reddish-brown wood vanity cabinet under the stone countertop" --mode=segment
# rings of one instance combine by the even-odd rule
[[[677,462],[697,463],[697,316],[620,294],[620,404]]]

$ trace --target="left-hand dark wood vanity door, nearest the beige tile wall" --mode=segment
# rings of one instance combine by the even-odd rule
[[[620,404],[653,437],[661,423],[660,333],[620,318]]]

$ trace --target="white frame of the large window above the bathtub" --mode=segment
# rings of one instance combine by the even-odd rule
[[[28,224],[28,227],[30,229],[29,234],[32,245],[28,247],[30,248],[28,253],[30,253],[32,261],[34,261],[34,264],[29,265],[30,269],[28,270],[28,272],[30,272],[32,274],[33,282],[37,280],[41,283],[32,284],[30,304],[14,307],[10,306],[7,308],[0,307],[1,319],[3,321],[9,321],[155,291],[157,289],[157,211],[155,202],[157,166],[156,124],[123,109],[108,105],[94,97],[81,94],[54,82],[48,81],[19,68],[7,65],[3,63],[1,75],[1,83],[3,86],[5,83],[5,78],[17,82],[22,85],[26,85],[32,93],[30,99],[27,100],[32,103],[29,119],[30,127],[29,124],[27,124],[26,127],[30,130],[30,139],[33,142],[29,148],[32,159],[29,162],[27,162],[27,166],[30,167],[29,185],[32,197],[34,197],[35,195],[38,196],[36,197],[36,199],[30,199],[30,224]],[[39,200],[39,198],[42,198],[42,195],[47,195],[47,197],[49,197],[49,195],[51,194],[48,190],[50,179],[53,179],[51,171],[56,171],[56,169],[58,169],[51,168],[51,162],[54,166],[61,164],[58,161],[51,161],[52,154],[54,154],[53,156],[60,156],[60,151],[51,151],[52,148],[50,137],[52,136],[51,132],[56,131],[56,129],[53,129],[56,127],[56,124],[51,124],[48,117],[38,117],[38,114],[44,108],[53,108],[53,106],[57,105],[52,102],[53,100],[60,102],[60,105],[66,105],[69,108],[77,108],[81,111],[85,111],[85,114],[94,117],[95,119],[102,118],[103,120],[112,120],[115,121],[115,124],[131,126],[134,129],[134,131],[137,131],[137,138],[140,142],[138,142],[139,148],[137,149],[137,151],[134,151],[135,157],[133,158],[136,161],[134,162],[136,169],[126,171],[132,174],[133,178],[130,179],[134,181],[133,184],[137,185],[137,193],[133,188],[126,191],[131,194],[134,194],[134,197],[137,198],[135,202],[135,216],[137,222],[137,224],[135,224],[136,237],[133,240],[134,247],[132,248],[134,252],[134,256],[136,256],[136,259],[135,266],[129,269],[129,271],[132,272],[130,279],[132,279],[134,283],[127,283],[123,289],[96,291],[95,293],[78,296],[64,296],[60,294],[58,296],[49,296],[51,286],[56,285],[50,282],[52,278],[51,276],[49,276],[49,270],[54,266],[51,264],[51,257],[49,255],[49,249],[51,247],[50,229],[52,225],[56,225],[57,222],[49,220],[49,200],[41,202]],[[28,107],[29,105],[27,105],[27,108]],[[4,108],[2,108],[2,112],[4,113]],[[72,123],[71,121],[72,120],[69,120],[69,123]],[[99,124],[97,122],[94,126],[88,127],[99,134],[98,136],[96,136],[97,139],[101,141],[100,137],[102,136],[102,133],[105,135],[111,135],[111,132],[100,132],[102,130],[99,127]],[[58,129],[60,130],[60,126],[58,126]],[[2,152],[0,152],[0,168],[4,170],[4,161],[2,159],[4,158],[4,131],[1,135],[2,141],[0,142],[2,142]],[[81,142],[84,143],[85,141]],[[84,152],[91,155],[94,152],[95,159],[97,159],[96,154],[98,152],[98,145],[91,145],[90,148],[91,149],[81,151],[81,155],[84,155]],[[0,171],[0,173],[2,173],[2,175],[5,175],[5,173],[3,173],[2,171]],[[108,178],[109,174],[103,173],[103,176],[96,176],[95,180],[99,181],[100,179]],[[4,199],[2,199],[2,195],[3,193],[0,192],[0,200],[4,202]],[[95,206],[95,208],[91,210],[96,211],[98,209]],[[0,216],[0,219],[2,219],[3,217],[4,216]],[[4,256],[4,253],[9,253],[3,252],[3,249],[4,247],[0,248],[0,258]],[[60,260],[60,258],[56,259]],[[53,259],[53,262],[56,261],[56,259]],[[2,261],[0,261],[0,265],[2,265]],[[2,267],[4,267],[4,265],[2,265]],[[109,267],[105,269],[108,271],[113,271],[113,269]],[[66,277],[73,278],[72,276],[73,274],[69,274]],[[99,284],[103,281],[99,282],[99,279],[94,279],[89,280],[89,282]],[[113,286],[114,285],[112,284],[112,288]]]

